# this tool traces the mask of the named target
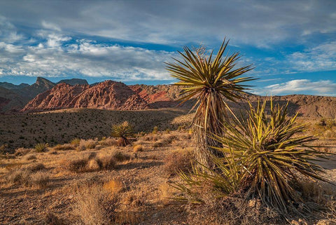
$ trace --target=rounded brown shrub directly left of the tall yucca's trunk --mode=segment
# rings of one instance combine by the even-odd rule
[[[193,153],[186,149],[173,151],[165,158],[164,169],[169,175],[189,172],[192,169]]]

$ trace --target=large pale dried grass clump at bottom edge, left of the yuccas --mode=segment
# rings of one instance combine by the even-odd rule
[[[116,198],[111,198],[109,191],[94,184],[80,188],[75,197],[73,214],[85,225],[113,224],[113,212]]]

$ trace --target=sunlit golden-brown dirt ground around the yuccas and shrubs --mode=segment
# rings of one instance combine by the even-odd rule
[[[174,121],[174,118],[169,120]],[[183,120],[182,116],[181,121]],[[148,126],[153,129],[153,125]],[[322,134],[321,143],[318,144],[328,144],[327,150],[336,152],[335,137],[324,137],[326,131],[323,129],[315,129]],[[78,147],[60,150],[50,146],[45,152],[21,149],[17,154],[3,156],[0,159],[0,224],[57,224],[55,221],[50,222],[50,214],[63,221],[58,224],[80,224],[76,214],[80,189],[93,184],[104,186],[111,181],[118,181],[120,186],[118,191],[114,191],[113,197],[118,200],[112,204],[116,224],[192,224],[188,222],[190,214],[186,205],[172,199],[173,196],[178,196],[178,192],[169,183],[179,178],[167,171],[166,167],[167,157],[173,152],[193,150],[189,131],[159,131],[157,134],[149,132],[135,140],[137,142],[133,146],[125,147],[104,146],[96,140],[98,144],[93,149],[87,148],[84,151],[78,151]],[[141,145],[144,151],[134,154],[136,144]],[[130,158],[118,161],[114,168],[74,172],[64,166],[66,161],[99,154],[111,155],[116,151]],[[332,159],[335,161],[319,163],[325,168],[325,177],[332,184],[336,184],[336,156]],[[48,175],[48,184],[30,186],[17,184],[13,180],[8,182],[8,176],[38,163],[45,166],[41,171]],[[335,191],[335,186],[331,185],[328,192],[328,195],[332,193],[330,198],[335,198]],[[84,217],[91,212],[83,208],[80,210],[83,210]],[[322,218],[318,223],[336,224],[336,221],[324,221]]]

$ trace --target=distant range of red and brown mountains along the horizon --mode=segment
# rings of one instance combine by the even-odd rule
[[[182,89],[172,85],[133,85],[116,81],[104,81],[89,85],[83,79],[67,79],[52,83],[38,77],[32,85],[0,82],[0,112],[18,113],[68,108],[141,110],[176,107]],[[250,102],[265,97],[246,95]],[[336,97],[314,95],[274,96],[274,102],[289,102],[288,112],[312,118],[336,118]],[[190,108],[193,100],[183,106]],[[230,102],[231,107],[241,109]]]

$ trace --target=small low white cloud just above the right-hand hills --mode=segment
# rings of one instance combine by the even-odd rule
[[[251,93],[256,95],[336,95],[336,83],[332,81],[311,81],[307,79],[293,80],[285,83],[276,83],[263,88],[255,88]]]

